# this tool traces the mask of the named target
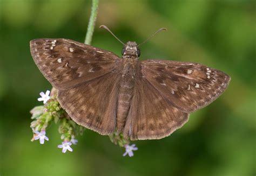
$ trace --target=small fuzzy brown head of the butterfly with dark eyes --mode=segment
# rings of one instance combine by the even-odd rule
[[[135,41],[128,41],[122,49],[123,57],[139,57],[140,50]]]

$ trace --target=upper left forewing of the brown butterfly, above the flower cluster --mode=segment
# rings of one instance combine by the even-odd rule
[[[118,69],[120,58],[109,51],[69,39],[35,39],[30,51],[53,87],[65,90]]]

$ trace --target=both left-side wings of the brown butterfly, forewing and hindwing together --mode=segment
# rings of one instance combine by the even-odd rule
[[[73,121],[102,135],[116,125],[120,58],[68,39],[35,39],[30,50]]]

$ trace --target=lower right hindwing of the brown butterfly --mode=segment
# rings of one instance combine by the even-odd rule
[[[167,101],[149,81],[137,76],[124,136],[131,140],[160,139],[188,121],[189,114]]]

